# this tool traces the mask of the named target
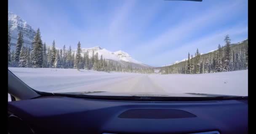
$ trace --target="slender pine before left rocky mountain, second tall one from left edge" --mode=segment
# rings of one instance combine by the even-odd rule
[[[21,47],[22,44],[24,43],[23,41],[23,34],[21,31],[18,33],[18,38],[17,38],[17,44],[16,44],[16,51],[15,51],[15,59],[14,59],[14,67],[18,67],[19,64],[19,57],[21,53]]]

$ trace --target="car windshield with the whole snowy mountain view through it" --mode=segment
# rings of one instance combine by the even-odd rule
[[[47,93],[247,96],[248,0],[8,0],[8,70]]]

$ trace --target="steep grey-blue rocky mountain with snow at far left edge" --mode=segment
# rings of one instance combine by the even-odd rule
[[[11,51],[15,50],[19,31],[23,33],[24,46],[31,46],[36,31],[26,21],[8,11],[8,26],[11,33]]]

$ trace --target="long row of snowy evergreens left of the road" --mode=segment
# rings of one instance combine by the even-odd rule
[[[152,68],[132,68],[131,64],[123,67],[120,64],[113,64],[110,60],[103,59],[102,55],[94,51],[89,57],[89,52],[82,52],[80,41],[77,44],[77,51],[72,51],[71,46],[66,49],[56,49],[55,41],[52,46],[46,48],[42,42],[40,29],[37,29],[36,35],[32,41],[32,46],[23,45],[23,34],[18,33],[16,49],[11,52],[11,34],[8,30],[8,67],[32,67],[32,68],[73,68],[77,70],[96,70],[96,71],[116,71],[133,73],[154,73]],[[82,56],[83,54],[83,56]]]

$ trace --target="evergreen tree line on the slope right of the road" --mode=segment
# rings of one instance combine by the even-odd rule
[[[201,57],[198,49],[193,55],[188,53],[185,65],[176,67],[171,65],[163,67],[162,74],[202,74],[214,72],[227,72],[248,69],[248,43],[245,46],[231,50],[229,35],[225,36],[225,47],[221,47],[206,57]]]

